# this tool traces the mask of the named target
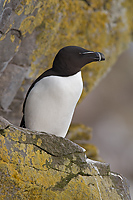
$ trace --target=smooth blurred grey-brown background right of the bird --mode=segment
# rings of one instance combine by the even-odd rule
[[[133,43],[77,106],[73,122],[92,127],[90,142],[111,170],[128,178],[133,197]]]

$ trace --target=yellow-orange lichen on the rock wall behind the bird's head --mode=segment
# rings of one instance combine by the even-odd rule
[[[9,3],[5,0],[3,8]],[[94,0],[89,3],[79,0],[26,0],[20,1],[14,12],[14,26],[20,23],[18,29],[23,38],[36,33],[36,48],[29,55],[31,77],[35,78],[44,69],[50,68],[54,56],[63,46],[77,45],[105,54],[106,62],[92,63],[82,70],[84,92],[81,99],[97,85],[131,41],[133,25],[130,0]],[[19,23],[17,20],[20,20]],[[1,39],[4,37],[5,33]]]

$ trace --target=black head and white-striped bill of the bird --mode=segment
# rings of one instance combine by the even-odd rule
[[[57,53],[53,62],[53,70],[61,76],[70,76],[79,72],[84,65],[102,60],[105,60],[105,57],[100,52],[67,46]]]

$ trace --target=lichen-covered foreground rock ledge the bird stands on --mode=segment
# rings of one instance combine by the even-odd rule
[[[70,140],[39,134],[0,117],[0,197],[128,200],[127,181],[109,164],[87,159]]]

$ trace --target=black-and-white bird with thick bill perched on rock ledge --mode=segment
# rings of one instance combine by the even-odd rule
[[[83,90],[81,69],[103,60],[102,53],[82,47],[60,49],[52,68],[31,84],[23,103],[20,127],[64,138]]]

